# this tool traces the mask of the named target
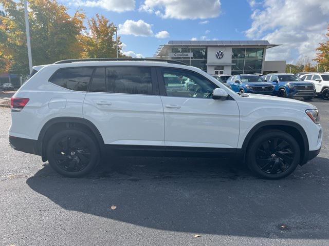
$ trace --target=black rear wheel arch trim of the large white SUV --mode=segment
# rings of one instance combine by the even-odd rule
[[[46,141],[52,133],[56,132],[56,130],[69,128],[82,129],[92,133],[98,142],[101,153],[104,153],[104,139],[93,122],[79,117],[56,117],[46,122],[38,136],[43,161],[48,159],[46,156],[46,145],[44,141]]]

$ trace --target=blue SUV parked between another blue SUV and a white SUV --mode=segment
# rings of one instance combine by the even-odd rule
[[[303,97],[311,100],[315,96],[315,86],[312,82],[303,81],[294,74],[270,73],[262,76],[265,81],[275,85],[275,95],[280,97]]]

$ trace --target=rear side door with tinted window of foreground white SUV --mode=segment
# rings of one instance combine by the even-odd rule
[[[154,68],[97,68],[84,100],[83,116],[99,129],[105,144],[165,145]]]

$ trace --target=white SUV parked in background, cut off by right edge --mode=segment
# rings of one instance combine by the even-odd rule
[[[301,76],[304,81],[313,82],[318,95],[323,99],[329,100],[329,74],[328,73],[309,73]]]

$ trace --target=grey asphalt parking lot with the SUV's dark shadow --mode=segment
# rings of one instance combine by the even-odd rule
[[[329,101],[312,104],[322,150],[281,180],[229,160],[161,157],[64,178],[10,148],[0,108],[0,245],[329,245]]]

